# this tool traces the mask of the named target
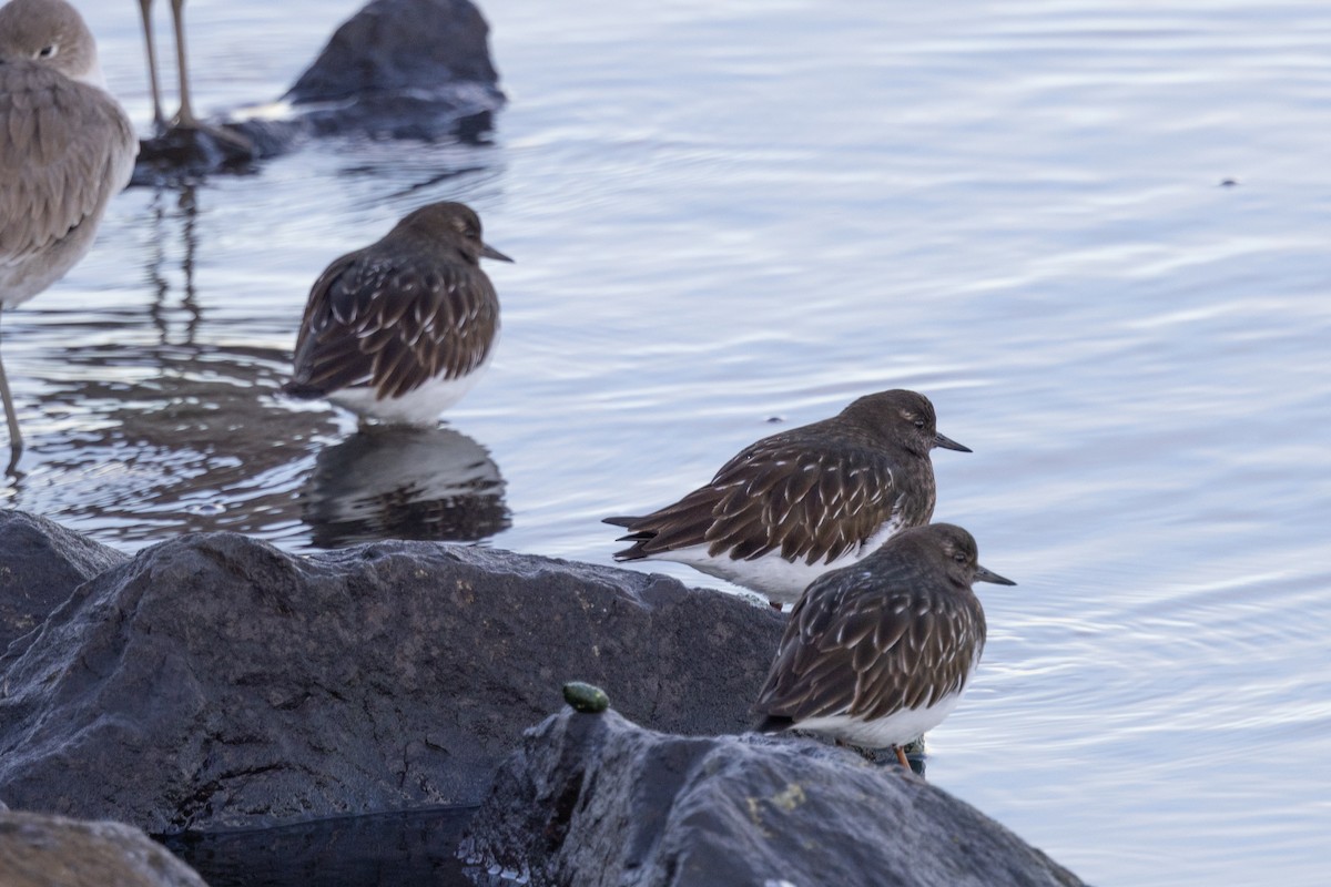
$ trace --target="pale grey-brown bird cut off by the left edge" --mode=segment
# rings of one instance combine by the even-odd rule
[[[0,7],[0,309],[37,295],[88,253],[137,153],[79,12],[64,0]],[[0,395],[12,469],[23,435],[3,363]]]

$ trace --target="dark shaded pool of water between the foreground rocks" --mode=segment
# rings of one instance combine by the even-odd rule
[[[454,852],[474,811],[441,807],[161,840],[209,887],[470,887]]]

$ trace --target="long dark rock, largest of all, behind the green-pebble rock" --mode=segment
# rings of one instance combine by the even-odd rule
[[[741,730],[781,626],[663,576],[500,551],[182,536],[0,657],[0,797],[153,834],[476,803],[567,680],[663,730]]]

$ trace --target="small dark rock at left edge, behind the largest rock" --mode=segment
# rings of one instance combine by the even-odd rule
[[[125,556],[45,517],[0,511],[0,653]]]

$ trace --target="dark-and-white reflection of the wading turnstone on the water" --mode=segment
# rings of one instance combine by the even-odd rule
[[[301,492],[318,548],[379,539],[473,543],[511,524],[490,452],[453,428],[367,427],[323,449]]]

